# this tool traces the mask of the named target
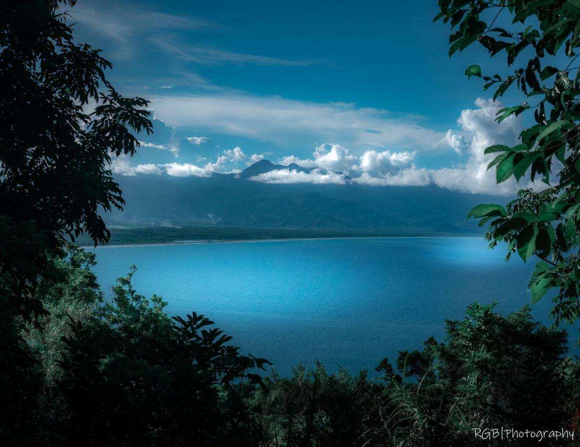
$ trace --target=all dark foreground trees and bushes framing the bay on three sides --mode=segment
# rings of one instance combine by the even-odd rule
[[[530,308],[502,316],[472,304],[446,323],[445,340],[401,351],[375,372],[328,375],[322,365],[292,377],[267,372],[213,322],[195,313],[169,318],[161,297],[139,295],[131,268],[104,297],[90,270],[95,257],[66,243],[85,232],[110,234],[100,209],[121,207],[108,169],[131,155],[132,132],[150,129],[147,101],[126,99],[107,82],[99,51],[73,42],[61,8],[74,0],[0,6],[0,442],[2,445],[465,446],[538,444],[537,438],[476,438],[474,429],[569,430],[578,435],[580,366],[567,335],[534,322]],[[580,43],[577,0],[441,0],[441,17],[459,30],[451,52],[480,42],[508,63],[531,46],[517,80],[538,94],[536,125],[515,148],[496,146],[498,181],[549,180],[507,208],[481,205],[488,238],[524,260],[543,259],[532,297],[557,292],[556,322],[577,319],[580,224],[577,202],[578,67],[541,68],[544,53]],[[521,33],[480,20],[488,9],[535,17]],[[537,28],[537,29],[536,29]],[[492,37],[498,33],[503,41]],[[509,39],[513,39],[510,42]],[[530,49],[530,48],[528,48]],[[542,74],[543,73],[543,74]],[[482,76],[481,68],[467,68]],[[555,76],[553,88],[539,84]],[[498,79],[499,78],[499,79]],[[543,79],[542,79],[543,78]],[[574,79],[572,81],[572,79]],[[93,107],[92,112],[86,110]],[[516,106],[498,119],[529,108]],[[555,221],[555,223],[554,223]],[[554,228],[555,227],[555,228]],[[266,377],[266,375],[269,375]],[[550,445],[569,443],[550,438]]]

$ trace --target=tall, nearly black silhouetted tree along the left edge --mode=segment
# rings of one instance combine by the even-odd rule
[[[121,96],[100,50],[74,42],[75,3],[0,6],[0,292],[24,318],[42,312],[31,285],[65,236],[108,240],[100,212],[123,205],[111,157],[152,130],[147,101]]]

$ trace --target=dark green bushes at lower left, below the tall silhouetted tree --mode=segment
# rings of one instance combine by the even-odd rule
[[[265,359],[241,355],[204,315],[170,319],[161,297],[133,288],[136,268],[104,299],[95,255],[70,246],[52,259],[61,279],[37,288],[49,314],[24,339],[35,362],[30,424],[0,439],[17,445],[258,445],[246,397],[266,389]],[[262,389],[262,388],[260,388]],[[26,428],[26,430],[25,430]]]

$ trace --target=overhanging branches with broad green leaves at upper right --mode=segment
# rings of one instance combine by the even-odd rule
[[[494,88],[494,100],[517,89],[525,101],[498,111],[496,121],[534,112],[517,146],[488,147],[498,183],[540,179],[549,188],[521,190],[506,207],[480,205],[469,217],[488,223],[493,247],[500,241],[527,261],[539,257],[530,281],[532,301],[555,288],[556,323],[580,316],[580,1],[440,0],[434,20],[451,24],[449,56],[479,43],[490,56],[506,57],[509,74],[486,75],[478,65],[467,77]],[[508,28],[496,23],[509,23]],[[553,65],[559,65],[558,67]]]

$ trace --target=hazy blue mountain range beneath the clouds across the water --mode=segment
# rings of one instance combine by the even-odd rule
[[[107,223],[481,233],[476,221],[466,220],[469,210],[479,203],[506,201],[436,186],[255,181],[276,170],[309,172],[261,160],[239,174],[119,176],[125,210],[108,213]]]

